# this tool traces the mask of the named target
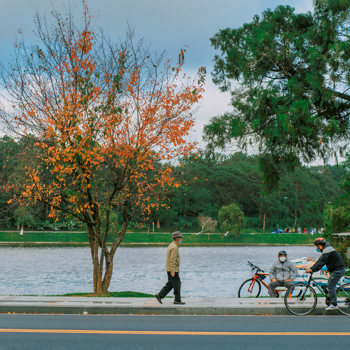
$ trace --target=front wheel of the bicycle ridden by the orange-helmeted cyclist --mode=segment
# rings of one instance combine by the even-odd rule
[[[316,303],[315,291],[304,283],[296,283],[289,287],[285,295],[286,308],[294,315],[309,314],[316,307]]]

